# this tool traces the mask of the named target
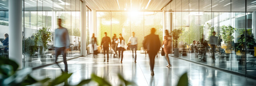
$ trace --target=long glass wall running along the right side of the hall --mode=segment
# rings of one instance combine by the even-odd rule
[[[166,29],[182,31],[173,34],[180,36],[180,58],[256,77],[255,6],[255,0],[172,0]]]

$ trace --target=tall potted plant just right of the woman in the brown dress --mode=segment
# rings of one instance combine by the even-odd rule
[[[171,31],[172,38],[174,39],[174,56],[179,56],[178,39],[180,38],[181,29],[174,29]]]

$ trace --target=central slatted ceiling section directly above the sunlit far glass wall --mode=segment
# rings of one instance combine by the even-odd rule
[[[171,0],[86,0],[96,10],[161,10]],[[148,6],[147,6],[148,5]]]

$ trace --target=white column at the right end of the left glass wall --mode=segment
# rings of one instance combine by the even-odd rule
[[[82,56],[86,56],[87,52],[86,52],[86,2],[83,2],[83,6],[82,6],[82,43],[81,43],[81,47],[82,47]]]

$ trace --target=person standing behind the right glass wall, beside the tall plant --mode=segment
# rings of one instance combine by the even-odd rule
[[[216,32],[214,31],[213,32],[213,35],[210,36],[210,44],[211,44],[211,47],[212,47],[212,59],[213,59],[213,62],[215,62],[215,48],[216,48],[216,45],[217,45],[217,42],[218,42],[218,37],[215,36]]]

